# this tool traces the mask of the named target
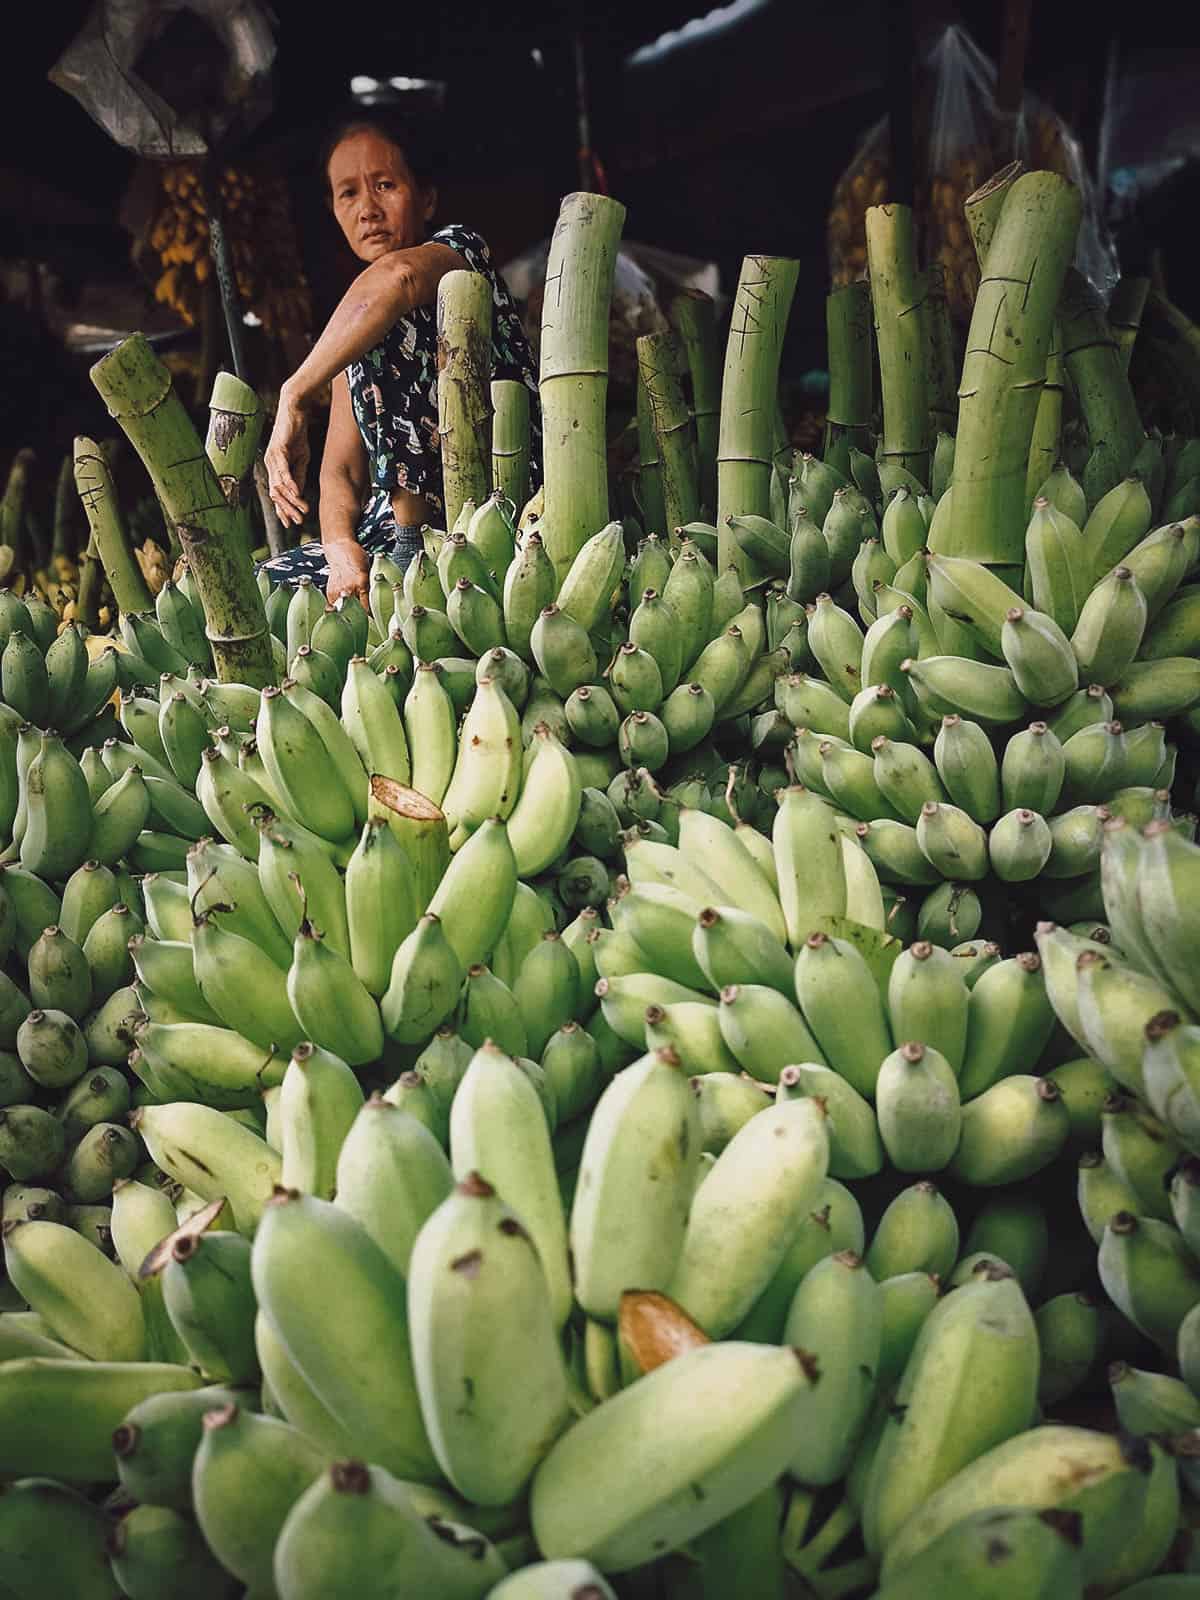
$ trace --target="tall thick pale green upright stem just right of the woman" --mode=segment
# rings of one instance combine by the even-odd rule
[[[582,544],[608,523],[608,315],[624,221],[616,200],[566,195],[546,264],[541,533],[560,581]]]

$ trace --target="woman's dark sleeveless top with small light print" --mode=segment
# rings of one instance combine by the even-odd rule
[[[536,486],[541,482],[538,374],[520,312],[478,234],[450,222],[432,234],[430,240],[450,245],[472,272],[483,274],[491,283],[491,376],[515,379],[530,390],[530,477]],[[394,490],[422,494],[435,512],[443,510],[437,429],[437,307],[418,306],[402,317],[373,350],[346,368],[346,378],[371,483],[358,523],[358,542],[374,544],[379,534],[390,533],[394,526]]]

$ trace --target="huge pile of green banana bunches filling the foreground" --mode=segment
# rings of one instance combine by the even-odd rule
[[[928,557],[946,483],[781,466],[750,589],[493,498],[269,594],[280,688],[187,576],[75,754],[3,677],[18,1600],[1195,1586],[1200,686]]]

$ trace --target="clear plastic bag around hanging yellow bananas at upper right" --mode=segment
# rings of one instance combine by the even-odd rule
[[[925,53],[914,85],[914,208],[922,256],[944,269],[950,314],[960,322],[970,318],[979,288],[963,200],[1013,152],[1027,168],[1061,173],[1078,186],[1083,222],[1075,264],[1107,299],[1117,282],[1117,258],[1078,141],[1035,94],[1024,96],[1013,126],[997,107],[995,86],[995,64],[957,24],[944,29]],[[834,190],[827,238],[835,286],[866,274],[866,211],[888,198],[888,144],[885,118],[866,134]]]

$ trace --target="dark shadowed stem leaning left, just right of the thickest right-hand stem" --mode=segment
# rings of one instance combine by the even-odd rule
[[[1104,470],[1090,493],[1094,501],[1106,493],[1106,486],[1114,488],[1126,477],[1146,434],[1104,306],[1074,267],[1062,286],[1059,320],[1062,357],[1088,427],[1091,456],[1104,461]]]

